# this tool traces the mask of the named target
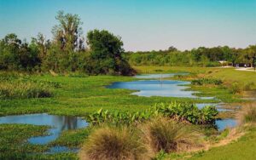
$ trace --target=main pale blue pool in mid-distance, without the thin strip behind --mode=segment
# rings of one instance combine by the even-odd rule
[[[138,90],[133,93],[139,96],[151,97],[151,96],[162,96],[162,97],[187,97],[196,98],[195,91],[187,91],[189,82],[175,81],[175,80],[140,80],[133,82],[118,82],[112,83],[108,86],[108,89],[131,89]]]

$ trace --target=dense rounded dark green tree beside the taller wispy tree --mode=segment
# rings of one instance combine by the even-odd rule
[[[131,66],[122,57],[125,52],[120,37],[108,31],[89,31],[87,44],[90,47],[90,58],[96,64],[96,74],[131,74]]]

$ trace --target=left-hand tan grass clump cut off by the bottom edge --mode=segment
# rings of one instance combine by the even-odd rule
[[[96,129],[80,151],[80,159],[150,159],[146,146],[128,128],[103,127]]]

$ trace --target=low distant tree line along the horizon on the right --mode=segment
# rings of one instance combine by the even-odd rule
[[[126,52],[125,56],[131,66],[256,66],[256,45],[246,49],[218,46],[185,51],[170,47],[159,51]],[[224,61],[224,64],[219,61]]]

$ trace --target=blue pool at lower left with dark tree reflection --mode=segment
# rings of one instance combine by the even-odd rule
[[[51,129],[48,130],[49,135],[28,139],[28,142],[37,145],[45,145],[50,141],[56,140],[64,130],[81,129],[88,126],[88,123],[81,117],[55,116],[46,113],[0,117],[0,123],[23,123],[51,126]]]

